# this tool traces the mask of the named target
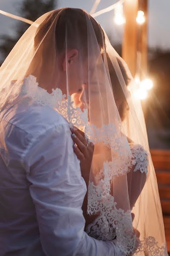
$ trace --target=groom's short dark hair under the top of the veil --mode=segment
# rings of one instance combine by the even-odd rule
[[[66,47],[67,49],[76,48],[83,55],[88,55],[88,49],[86,49],[88,45],[87,19],[90,19],[91,21],[99,47],[105,47],[105,35],[99,23],[84,10],[74,8],[62,8],[49,13],[48,17],[46,17],[37,29],[34,38],[34,47],[36,48],[40,45],[40,42],[50,29],[54,29],[52,24],[56,20],[56,51],[60,53],[65,50]],[[79,37],[75,38],[75,34]],[[66,37],[67,40],[65,40]],[[65,45],[66,41],[67,46]]]

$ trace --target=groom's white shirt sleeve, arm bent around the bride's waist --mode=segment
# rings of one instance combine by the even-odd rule
[[[113,242],[98,241],[84,232],[86,185],[68,124],[48,129],[35,139],[24,165],[45,255],[122,255]]]

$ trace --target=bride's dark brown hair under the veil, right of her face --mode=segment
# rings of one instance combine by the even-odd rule
[[[128,76],[127,71],[126,71],[125,66],[122,63],[122,61],[119,58],[116,58],[116,60],[119,64],[119,68],[122,72],[123,79],[127,86],[130,83],[131,79]],[[109,74],[110,74],[110,78],[111,78],[111,86],[112,86],[114,98],[121,100],[121,104],[118,107],[118,111],[119,111],[119,116],[123,121],[129,108],[127,105],[125,94],[122,90],[122,86],[119,82],[118,76],[116,75],[116,71],[113,67],[113,64],[112,64],[111,59],[109,58],[108,54],[107,54],[107,61],[108,61],[108,69],[109,69]]]

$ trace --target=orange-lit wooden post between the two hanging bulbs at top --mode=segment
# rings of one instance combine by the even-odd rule
[[[122,42],[122,58],[126,61],[132,76],[136,74],[138,0],[125,0],[125,31]]]

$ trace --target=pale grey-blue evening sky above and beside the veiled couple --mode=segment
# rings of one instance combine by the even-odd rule
[[[0,9],[18,15],[20,3],[23,0],[0,0]],[[96,11],[106,8],[117,0],[101,0]],[[82,8],[90,12],[95,0],[58,0],[57,8],[74,7]],[[170,0],[148,0],[148,45],[150,47],[160,47],[170,49]],[[105,31],[112,37],[114,42],[122,41],[123,27],[118,26],[113,21],[114,12],[96,17]],[[0,37],[4,34],[15,33],[16,20],[0,14]]]

